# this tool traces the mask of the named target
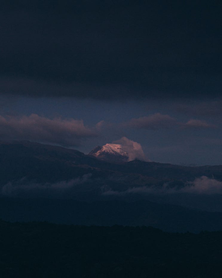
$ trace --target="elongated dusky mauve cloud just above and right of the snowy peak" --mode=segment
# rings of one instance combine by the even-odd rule
[[[177,125],[177,122],[169,115],[155,113],[153,115],[131,119],[131,121],[123,123],[123,125],[126,127],[133,127],[137,129],[157,130],[172,127],[174,125]]]

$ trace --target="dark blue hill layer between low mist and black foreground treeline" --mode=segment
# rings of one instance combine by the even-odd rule
[[[47,221],[67,225],[152,226],[166,232],[222,230],[222,212],[204,212],[148,200],[83,202],[0,197],[0,218],[10,222]]]

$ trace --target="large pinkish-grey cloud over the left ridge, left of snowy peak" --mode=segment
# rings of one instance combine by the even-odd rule
[[[48,119],[36,114],[30,116],[0,116],[0,138],[4,140],[31,140],[63,146],[81,145],[82,140],[97,136],[82,120]]]

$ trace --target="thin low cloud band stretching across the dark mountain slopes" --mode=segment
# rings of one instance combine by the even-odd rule
[[[174,186],[169,183],[164,183],[162,186],[132,186],[125,190],[113,189],[112,185],[115,183],[125,184],[128,183],[126,178],[119,177],[113,179],[108,177],[93,178],[91,173],[84,174],[75,179],[62,180],[56,183],[36,183],[23,177],[21,180],[10,181],[1,186],[0,195],[8,197],[50,197],[50,198],[75,198],[76,194],[87,194],[87,192],[97,192],[102,196],[122,196],[127,195],[152,195],[152,196],[172,196],[172,195],[222,195],[222,181],[215,180],[206,176],[198,177],[192,182],[184,183],[184,186]],[[105,185],[107,183],[107,185]],[[108,185],[109,184],[109,185]],[[124,185],[124,188],[126,188]],[[129,185],[128,185],[129,186]],[[114,186],[116,187],[116,186]],[[116,187],[117,188],[117,187]],[[100,193],[99,193],[100,192]],[[97,195],[98,197],[99,195]]]

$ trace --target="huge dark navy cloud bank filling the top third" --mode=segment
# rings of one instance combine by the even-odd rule
[[[150,3],[8,1],[0,12],[1,92],[103,99],[220,95],[221,4]]]

